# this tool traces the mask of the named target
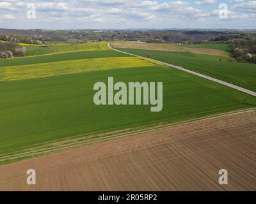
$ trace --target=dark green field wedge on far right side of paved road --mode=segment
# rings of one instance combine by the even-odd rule
[[[149,56],[152,59],[168,62],[184,68],[219,78],[225,82],[256,91],[256,64],[218,61],[186,52],[166,52],[155,50],[138,50],[120,48],[119,50],[132,54]]]

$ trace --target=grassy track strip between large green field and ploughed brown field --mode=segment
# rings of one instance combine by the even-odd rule
[[[22,158],[29,159],[31,157],[44,156],[46,154],[61,152],[63,150],[70,150],[70,149],[74,149],[74,148],[77,148],[77,147],[81,147],[83,145],[89,145],[89,144],[95,143],[95,142],[105,142],[105,141],[108,141],[108,140],[112,140],[114,138],[123,138],[123,137],[126,137],[126,136],[141,135],[143,133],[150,133],[150,132],[154,132],[154,131],[161,130],[161,129],[164,129],[164,128],[175,127],[175,126],[179,126],[179,125],[182,125],[182,124],[195,122],[195,121],[198,121],[198,120],[209,120],[209,119],[222,117],[224,115],[235,115],[235,114],[241,113],[241,112],[254,112],[254,111],[256,111],[256,108],[249,108],[249,109],[244,109],[244,110],[235,110],[235,111],[227,112],[227,113],[217,113],[217,114],[214,114],[214,115],[208,115],[208,116],[199,117],[199,118],[196,118],[196,119],[183,120],[183,121],[180,121],[180,122],[161,124],[161,125],[158,125],[158,126],[152,126],[152,127],[148,127],[148,128],[145,128],[145,126],[141,126],[141,129],[140,129],[140,127],[137,127],[139,129],[131,130],[131,131],[129,131],[129,130],[125,131],[125,129],[120,129],[117,133],[115,133],[116,131],[103,132],[102,133],[103,136],[99,136],[97,138],[92,138],[92,139],[89,139],[89,140],[86,140],[86,139],[83,140],[83,138],[79,138],[79,136],[71,136],[69,138],[65,138],[64,140],[49,142],[48,144],[51,145],[54,142],[63,142],[65,140],[70,140],[70,138],[81,139],[82,141],[69,142],[69,143],[65,143],[63,145],[58,145],[58,146],[54,146],[54,147],[47,147],[47,148],[44,148],[44,149],[32,150],[32,151],[29,151],[29,152],[22,152],[22,153],[18,153],[18,154],[12,154],[12,155],[9,155],[9,156],[2,156],[2,157],[0,157],[0,166],[4,165],[4,164],[7,164],[7,163],[12,163],[13,159],[17,159],[19,161],[19,160],[22,160]],[[86,135],[93,136],[93,133],[88,133]]]

